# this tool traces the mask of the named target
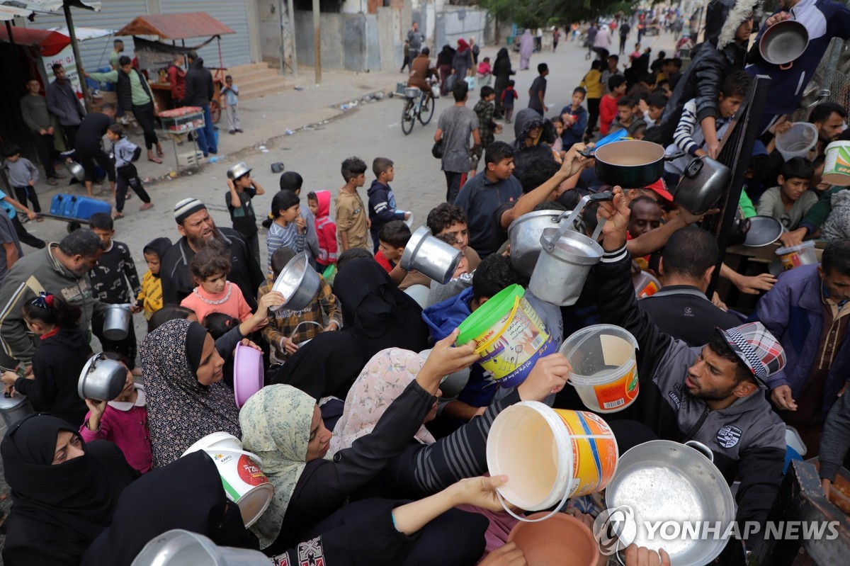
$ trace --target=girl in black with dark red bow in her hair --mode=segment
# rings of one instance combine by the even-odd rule
[[[79,427],[86,404],[77,395],[82,367],[92,355],[86,333],[79,327],[82,313],[61,297],[43,292],[24,303],[26,327],[40,337],[32,356],[32,375],[3,373],[5,392],[14,391],[30,398],[32,408],[48,412]]]

